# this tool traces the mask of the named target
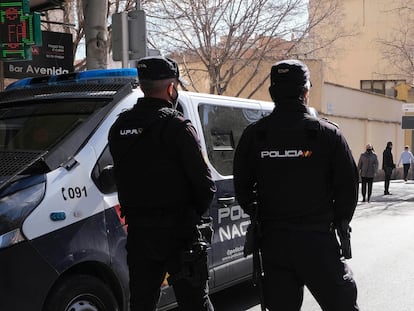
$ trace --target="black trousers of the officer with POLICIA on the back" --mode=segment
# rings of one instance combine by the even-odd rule
[[[357,311],[352,272],[335,233],[264,228],[261,242],[265,305],[299,311],[306,286],[323,311]]]

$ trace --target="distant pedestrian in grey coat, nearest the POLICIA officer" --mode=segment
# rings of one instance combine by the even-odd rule
[[[362,202],[365,202],[367,198],[367,186],[369,202],[372,194],[372,183],[378,171],[378,157],[374,152],[372,144],[367,144],[366,151],[361,153],[358,161],[358,171],[361,176]]]

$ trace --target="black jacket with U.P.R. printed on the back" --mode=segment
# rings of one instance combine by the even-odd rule
[[[140,98],[109,132],[115,180],[128,223],[190,224],[215,193],[197,133],[169,103]]]

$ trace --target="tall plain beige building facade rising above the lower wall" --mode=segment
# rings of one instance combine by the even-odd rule
[[[310,0],[312,2],[312,0]],[[361,80],[401,79],[384,58],[380,39],[390,39],[400,27],[400,15],[395,7],[399,0],[343,0],[345,29],[352,35],[336,41],[331,47],[335,57],[327,59],[325,80],[360,88]],[[316,27],[320,36],[329,34],[330,27]]]

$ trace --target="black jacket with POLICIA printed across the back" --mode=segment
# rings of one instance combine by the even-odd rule
[[[234,185],[247,211],[257,190],[263,221],[327,227],[351,220],[358,171],[341,131],[293,102],[245,129],[235,153]]]

